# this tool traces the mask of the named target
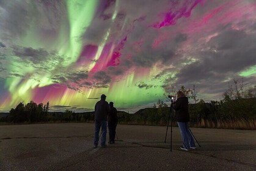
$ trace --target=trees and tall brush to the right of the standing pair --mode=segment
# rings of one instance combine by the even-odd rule
[[[171,86],[172,95],[176,94],[174,86]],[[228,89],[223,93],[220,101],[205,103],[198,99],[196,85],[192,89],[181,86],[180,89],[190,101],[189,104],[190,125],[203,128],[238,128],[256,129],[256,85],[246,87],[243,80],[234,79]],[[170,105],[169,105],[170,106]],[[133,115],[120,114],[120,123],[143,125],[167,125],[170,107],[162,100],[158,100],[153,108],[142,109]],[[173,120],[175,120],[175,112]],[[174,122],[174,125],[176,123]]]

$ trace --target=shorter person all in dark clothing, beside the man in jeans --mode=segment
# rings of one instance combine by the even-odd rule
[[[110,112],[108,115],[109,144],[115,144],[115,129],[117,128],[117,109],[114,103],[109,102]]]

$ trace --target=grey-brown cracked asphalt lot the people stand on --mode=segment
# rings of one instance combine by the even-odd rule
[[[116,144],[93,149],[92,123],[0,126],[0,170],[256,170],[256,131],[191,128],[200,146],[182,151],[178,128],[118,125]],[[108,136],[107,136],[108,139]]]

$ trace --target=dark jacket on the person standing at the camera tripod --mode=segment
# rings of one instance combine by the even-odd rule
[[[177,122],[189,122],[187,97],[178,98],[174,104],[174,110],[176,111]]]

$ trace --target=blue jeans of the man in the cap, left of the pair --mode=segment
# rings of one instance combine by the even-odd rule
[[[94,128],[94,145],[98,145],[98,134],[100,132],[100,127],[101,127],[101,142],[100,145],[105,145],[106,144],[106,137],[107,137],[107,121],[106,120],[95,120],[95,128]]]

